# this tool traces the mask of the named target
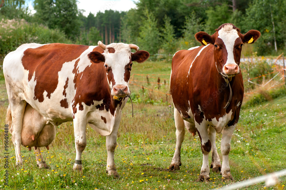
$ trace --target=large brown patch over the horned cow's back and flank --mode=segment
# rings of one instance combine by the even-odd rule
[[[51,93],[57,88],[58,72],[63,64],[75,60],[87,49],[86,45],[51,43],[25,50],[22,64],[24,69],[29,71],[28,81],[32,79],[34,72],[34,80],[37,81],[34,100],[43,102],[45,91],[47,97],[50,98]]]

